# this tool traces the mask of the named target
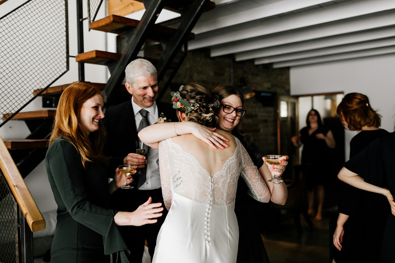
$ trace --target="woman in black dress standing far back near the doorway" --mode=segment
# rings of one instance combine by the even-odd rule
[[[314,190],[317,193],[317,213],[314,220],[322,220],[322,206],[324,205],[324,182],[327,177],[328,148],[335,148],[332,132],[322,125],[320,113],[311,109],[306,118],[306,127],[300,130],[299,136],[292,137],[295,147],[301,147],[301,164],[306,169],[306,188],[308,214],[314,216]],[[316,188],[316,189],[314,189]]]

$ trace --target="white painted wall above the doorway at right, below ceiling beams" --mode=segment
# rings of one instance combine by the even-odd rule
[[[395,54],[312,64],[290,68],[291,95],[324,92],[359,92],[369,97],[373,109],[382,115],[382,128],[394,130]],[[307,103],[307,102],[305,102]],[[314,103],[314,107],[318,107]],[[321,113],[321,111],[318,109]],[[306,113],[300,112],[304,122]],[[301,124],[300,127],[305,125]],[[346,159],[355,131],[346,131]]]

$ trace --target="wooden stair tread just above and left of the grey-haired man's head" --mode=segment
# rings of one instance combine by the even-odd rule
[[[90,64],[99,64],[99,65],[108,65],[113,64],[120,60],[121,58],[120,53],[112,53],[107,51],[100,51],[100,50],[92,50],[85,53],[78,54],[75,56],[76,62],[83,62],[83,63],[90,63]],[[156,65],[158,60],[155,58],[144,58],[151,62],[152,64]],[[175,68],[177,63],[172,62],[170,64],[170,68]]]

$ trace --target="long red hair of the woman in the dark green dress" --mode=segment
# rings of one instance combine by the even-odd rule
[[[108,159],[103,154],[106,132],[102,122],[99,130],[87,135],[79,122],[79,114],[85,101],[100,95],[100,91],[87,83],[73,83],[68,86],[59,99],[55,114],[54,127],[49,145],[59,136],[63,136],[78,151],[83,167],[87,162],[95,160],[108,165]]]

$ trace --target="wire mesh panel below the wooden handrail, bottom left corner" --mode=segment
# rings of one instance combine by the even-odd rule
[[[0,172],[0,262],[18,260],[17,203]]]

